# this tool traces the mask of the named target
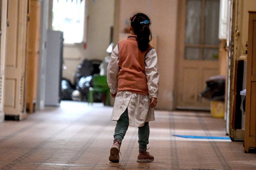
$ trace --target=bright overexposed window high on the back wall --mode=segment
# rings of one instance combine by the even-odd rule
[[[85,0],[53,0],[52,29],[63,31],[64,43],[82,43]]]

